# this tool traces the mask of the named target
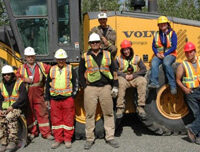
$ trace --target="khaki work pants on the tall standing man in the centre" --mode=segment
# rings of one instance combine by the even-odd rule
[[[104,117],[104,129],[106,132],[105,138],[107,141],[114,139],[115,125],[113,115],[113,100],[111,97],[111,86],[87,86],[84,90],[84,108],[86,112],[85,131],[87,141],[95,140],[95,113],[98,102],[100,103]]]

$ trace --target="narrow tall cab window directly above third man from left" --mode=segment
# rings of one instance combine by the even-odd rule
[[[69,0],[57,0],[58,42],[70,43]]]

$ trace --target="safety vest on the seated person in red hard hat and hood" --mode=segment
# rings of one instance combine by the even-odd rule
[[[129,64],[133,67],[133,72],[138,71],[138,62],[140,61],[140,57],[138,55],[134,55],[130,61],[126,60],[124,56],[117,57],[117,62],[119,63],[119,71],[123,73],[128,72]]]

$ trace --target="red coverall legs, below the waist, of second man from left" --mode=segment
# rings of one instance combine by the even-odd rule
[[[40,133],[44,138],[51,134],[49,126],[48,109],[44,101],[44,89],[41,87],[29,87],[28,98],[31,111],[28,115],[27,123],[29,132],[37,136],[37,123]]]

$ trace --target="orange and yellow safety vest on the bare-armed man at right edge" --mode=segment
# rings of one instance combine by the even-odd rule
[[[183,61],[183,67],[185,69],[185,76],[182,83],[187,88],[197,88],[200,83],[200,57],[197,58],[197,69],[193,67],[192,63]]]

